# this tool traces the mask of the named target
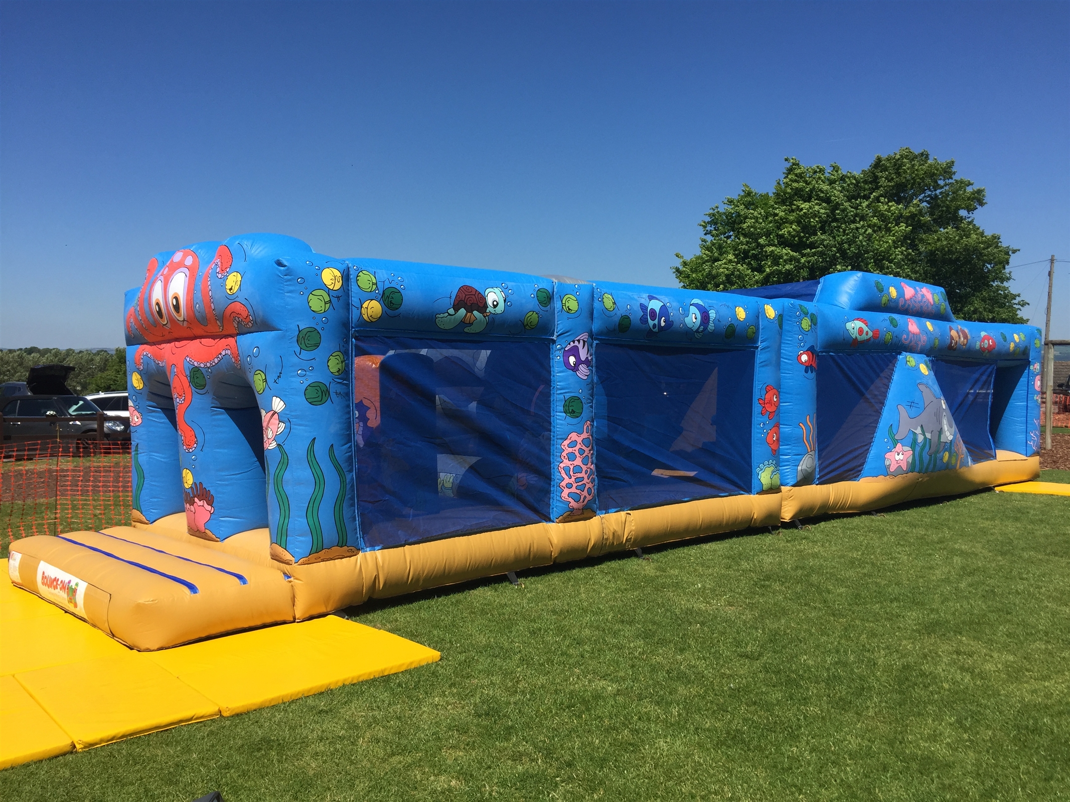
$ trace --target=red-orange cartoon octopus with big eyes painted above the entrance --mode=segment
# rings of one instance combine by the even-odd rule
[[[193,401],[188,368],[211,368],[227,357],[240,367],[238,326],[253,327],[253,314],[239,300],[228,304],[221,318],[215,312],[209,277],[214,268],[215,275],[223,278],[232,264],[233,257],[226,245],[219,246],[203,273],[197,255],[189,249],[177,250],[162,271],[157,261],[151,259],[137,303],[126,315],[126,330],[150,343],[139,345],[134,352],[134,364],[143,369],[148,358],[167,372],[175,422],[186,451],[197,447],[197,433],[186,422],[186,411]],[[197,317],[194,304],[198,278],[203,320]]]

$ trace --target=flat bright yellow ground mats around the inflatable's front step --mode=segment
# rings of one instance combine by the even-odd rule
[[[413,668],[439,652],[337,616],[137,652],[0,561],[0,769]]]

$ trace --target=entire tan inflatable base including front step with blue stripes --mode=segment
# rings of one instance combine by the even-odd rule
[[[268,623],[301,621],[371,598],[781,521],[865,512],[1027,481],[1039,472],[1039,457],[998,451],[995,460],[959,471],[684,502],[304,565],[279,559],[288,555],[272,547],[268,529],[214,543],[187,535],[185,515],[178,513],[134,527],[16,541],[11,547],[12,577],[123,644],[153,651]],[[75,581],[82,588],[77,599],[56,590],[57,583],[66,582],[66,587]]]

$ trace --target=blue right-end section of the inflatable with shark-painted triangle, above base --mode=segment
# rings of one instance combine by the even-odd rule
[[[943,288],[869,273],[782,297],[785,487],[926,474],[1039,447],[1040,331],[956,320]]]

